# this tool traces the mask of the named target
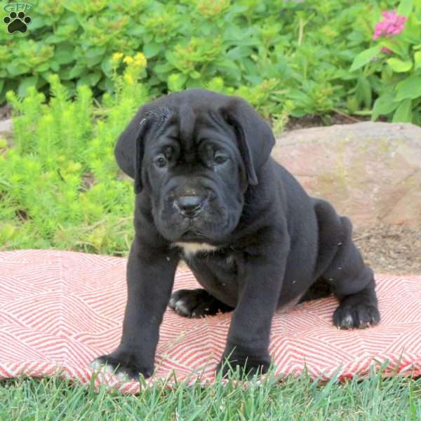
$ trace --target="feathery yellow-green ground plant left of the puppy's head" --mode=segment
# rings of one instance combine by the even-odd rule
[[[115,61],[115,60],[114,60]],[[76,99],[57,75],[51,101],[33,87],[13,107],[13,146],[0,141],[1,248],[65,248],[91,253],[127,253],[133,234],[133,182],[119,180],[116,138],[142,103],[145,57],[126,60],[117,72],[114,97],[93,107],[93,94],[79,86]]]

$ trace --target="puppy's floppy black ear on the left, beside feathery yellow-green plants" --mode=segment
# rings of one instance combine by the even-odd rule
[[[121,171],[135,180],[135,194],[140,193],[143,187],[141,165],[147,126],[146,113],[141,109],[121,133],[114,148],[114,156]]]

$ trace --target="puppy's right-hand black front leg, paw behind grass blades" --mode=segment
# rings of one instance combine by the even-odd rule
[[[218,365],[220,370],[225,362],[222,374],[227,373],[229,366],[234,370],[240,366],[248,375],[267,371],[270,364],[269,335],[281,292],[286,256],[287,253],[282,253],[276,260],[267,256],[247,259],[243,288]]]

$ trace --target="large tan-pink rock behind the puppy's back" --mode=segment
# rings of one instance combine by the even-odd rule
[[[356,228],[421,228],[420,127],[366,122],[290,131],[272,156]]]

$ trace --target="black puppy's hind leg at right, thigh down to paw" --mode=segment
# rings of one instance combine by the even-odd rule
[[[330,236],[330,261],[322,277],[340,300],[333,314],[333,323],[338,328],[366,328],[379,323],[375,280],[373,270],[366,266],[359,250],[352,241],[352,223],[340,217],[327,202],[318,206],[318,218],[323,214],[323,224]],[[322,209],[321,209],[322,208]],[[320,221],[319,221],[320,222]],[[322,242],[323,235],[321,234]],[[325,243],[326,246],[326,243]]]

